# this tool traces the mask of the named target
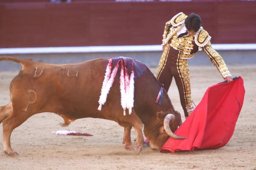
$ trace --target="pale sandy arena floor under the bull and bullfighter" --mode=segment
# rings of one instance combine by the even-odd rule
[[[116,122],[87,118],[63,128],[58,125],[63,122],[60,116],[41,113],[13,131],[12,148],[19,157],[3,153],[3,135],[0,134],[0,170],[256,170],[256,65],[229,68],[233,76],[244,79],[246,93],[236,130],[225,147],[175,154],[144,148],[142,155],[137,155],[124,149],[123,128]],[[198,104],[209,86],[223,80],[214,66],[193,66],[190,70],[192,99]],[[155,74],[156,68],[151,71]],[[0,72],[0,105],[9,103],[9,83],[17,73]],[[183,116],[175,82],[169,96]],[[184,116],[182,118],[184,120]],[[93,136],[52,133],[62,129]]]

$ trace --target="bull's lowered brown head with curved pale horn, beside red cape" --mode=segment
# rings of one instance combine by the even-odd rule
[[[150,147],[152,150],[159,150],[163,144],[172,137],[174,139],[185,139],[186,137],[177,136],[173,133],[182,121],[180,118],[180,113],[157,113],[157,124],[151,130],[145,130],[145,136],[150,141]]]

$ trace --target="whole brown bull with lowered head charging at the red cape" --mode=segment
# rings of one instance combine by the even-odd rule
[[[120,58],[114,58],[115,64]],[[10,85],[11,101],[0,107],[0,123],[3,122],[3,149],[7,155],[17,156],[12,150],[12,131],[36,113],[52,112],[64,119],[64,125],[86,118],[101,118],[117,122],[125,127],[123,143],[125,148],[140,152],[143,147],[142,128],[150,140],[153,150],[158,150],[169,136],[175,136],[181,123],[180,113],[174,110],[166,93],[161,105],[155,103],[160,83],[151,71],[141,62],[122,57],[134,64],[134,108],[124,116],[120,104],[119,75],[116,75],[105,105],[98,111],[98,100],[108,59],[94,59],[78,64],[53,65],[13,57],[0,57],[20,63],[22,70]],[[120,68],[118,70],[120,73]],[[171,113],[171,114],[169,114]],[[165,125],[164,125],[165,122]],[[131,142],[131,128],[136,131],[135,146]]]

